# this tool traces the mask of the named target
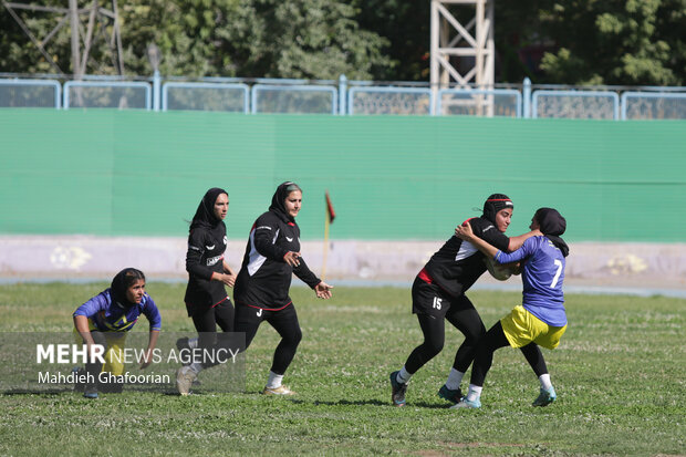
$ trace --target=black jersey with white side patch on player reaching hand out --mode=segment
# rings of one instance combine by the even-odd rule
[[[260,216],[250,230],[243,262],[236,279],[233,299],[264,310],[280,310],[291,303],[292,274],[314,288],[321,280],[300,258],[299,267],[283,260],[287,252],[300,252],[300,228],[273,211]]]

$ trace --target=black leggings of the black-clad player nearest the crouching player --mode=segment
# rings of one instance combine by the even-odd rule
[[[198,331],[198,347],[219,349],[228,346],[229,335],[217,335],[217,325],[222,332],[233,330],[233,304],[228,298],[212,308],[197,310],[193,313],[193,324]],[[209,368],[220,363],[219,357],[211,357],[202,362],[204,368]]]

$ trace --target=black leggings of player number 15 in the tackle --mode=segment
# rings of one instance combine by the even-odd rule
[[[405,362],[405,370],[414,374],[425,363],[434,359],[441,350],[446,339],[445,321],[429,314],[417,314],[419,326],[424,333],[424,343],[415,347]],[[481,316],[467,297],[459,303],[450,305],[446,320],[465,335],[465,341],[455,354],[453,367],[466,372],[476,355],[477,343],[486,333]]]

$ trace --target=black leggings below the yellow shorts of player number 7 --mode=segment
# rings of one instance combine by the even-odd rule
[[[493,363],[493,352],[499,350],[500,347],[509,346],[510,342],[505,336],[505,332],[502,331],[502,325],[500,321],[498,321],[490,330],[486,333],[486,336],[479,343],[479,347],[477,349],[477,356],[474,360],[474,366],[471,367],[471,381],[470,383],[474,385],[482,386],[484,381],[486,380],[486,375],[490,370],[491,364]],[[545,360],[543,359],[543,354],[539,349],[538,344],[531,342],[526,346],[520,347],[521,353],[524,354],[527,362],[533,368],[533,372],[537,376],[548,373],[548,367],[545,366]]]

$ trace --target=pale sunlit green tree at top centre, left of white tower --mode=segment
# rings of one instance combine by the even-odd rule
[[[249,0],[237,14],[226,32],[241,76],[368,80],[389,64],[386,40],[362,30],[342,1]]]

